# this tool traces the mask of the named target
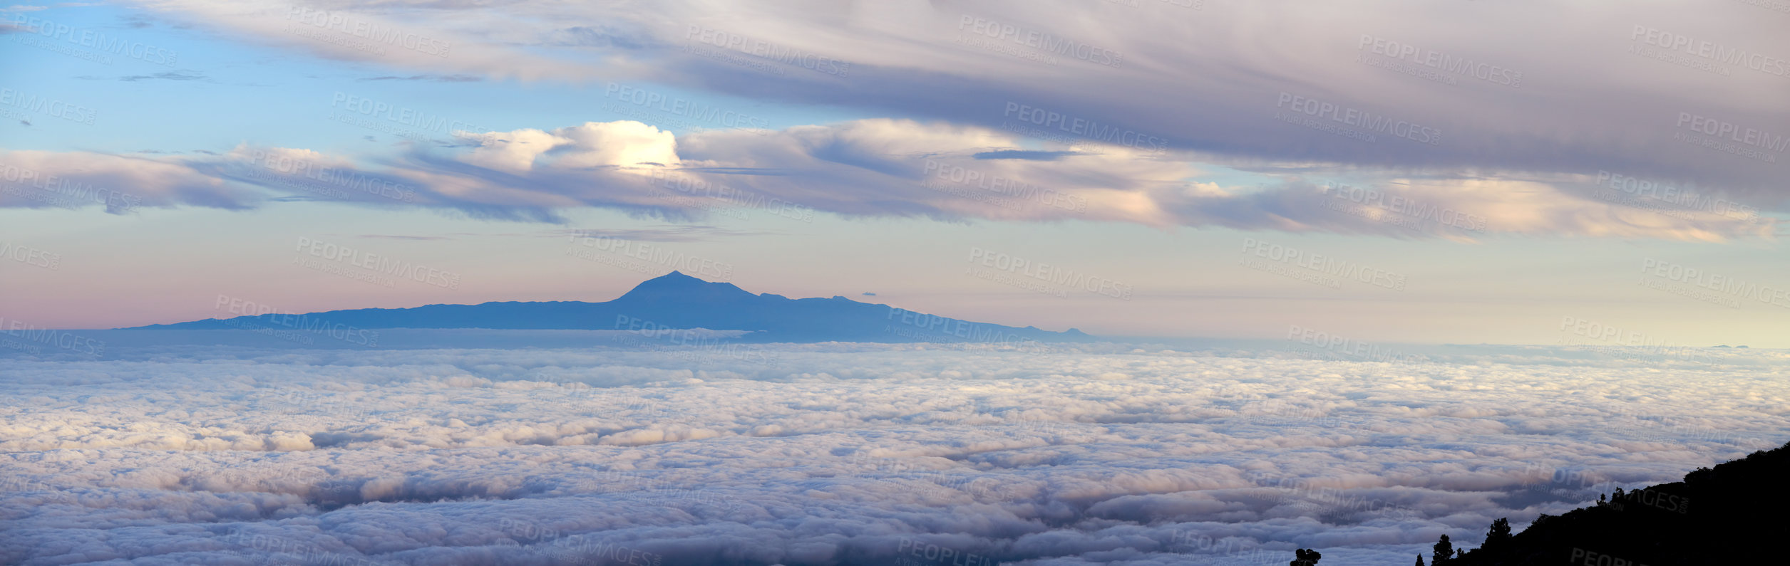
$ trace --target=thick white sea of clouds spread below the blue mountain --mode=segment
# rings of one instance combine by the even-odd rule
[[[1409,564],[1790,441],[1702,352],[9,352],[0,562]]]

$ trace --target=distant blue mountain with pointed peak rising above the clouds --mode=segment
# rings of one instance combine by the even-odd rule
[[[752,295],[729,282],[671,271],[648,279],[610,302],[487,302],[412,309],[351,309],[310,314],[209,318],[124,330],[227,329],[498,329],[498,330],[750,330],[746,341],[865,343],[1036,343],[1087,341],[1090,336],[1035,327],[976,323],[863,304],[845,296],[788,298]]]

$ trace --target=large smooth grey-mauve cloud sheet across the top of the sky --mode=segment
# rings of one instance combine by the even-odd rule
[[[1636,37],[1636,27],[1677,23],[1677,34],[1720,36],[1724,46],[1785,57],[1770,54],[1781,45],[1774,21],[1736,18],[1733,12],[1758,11],[1740,4],[1604,2],[1547,21],[1504,5],[1453,2],[1409,11],[1391,0],[1350,9],[1208,2],[1199,11],[1172,2],[1069,0],[806,12],[707,0],[342,11],[345,18],[451,36],[453,57],[405,48],[353,52],[288,37],[277,32],[281,18],[251,5],[156,5],[260,37],[251,41],[422,70],[417,77],[575,84],[626,77],[1044,136],[1104,137],[1088,132],[1110,130],[1160,139],[1174,159],[1226,166],[1400,175],[1473,170],[1493,179],[1620,170],[1720,187],[1761,209],[1790,205],[1776,164],[1693,146],[1679,120],[1708,116],[1790,136],[1777,127],[1790,123],[1790,111],[1776,96],[1786,68],[1740,64],[1731,75],[1709,75],[1632,54],[1645,39]],[[1699,16],[1684,18],[1686,11]],[[1482,25],[1464,34],[1427,25],[1462,20]],[[1074,50],[977,36],[988,29],[1051,37]],[[1511,41],[1505,30],[1550,34]],[[1264,50],[1258,37],[1267,36],[1283,41]],[[977,46],[983,43],[992,48]],[[1391,55],[1387,45],[1396,48]],[[1407,61],[1411,54],[1428,59]],[[804,66],[814,61],[850,66]],[[1432,61],[1450,64],[1434,68]],[[1400,71],[1405,68],[1414,71]],[[1581,71],[1586,68],[1609,70],[1613,79]],[[1101,87],[1061,87],[1070,77]],[[1727,93],[1722,102],[1706,96],[1711,86]],[[1348,125],[1355,118],[1344,114],[1368,118]],[[1076,125],[1079,134],[1065,134]]]

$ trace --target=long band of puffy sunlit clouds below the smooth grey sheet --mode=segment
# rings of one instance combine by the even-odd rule
[[[1720,193],[1663,200],[1611,189],[1620,184],[1609,182],[1609,175],[1513,180],[1360,171],[1355,175],[1360,182],[1314,184],[1291,175],[1278,186],[1221,186],[1198,180],[1203,171],[1190,162],[1138,148],[1058,143],[1054,150],[1022,150],[1026,141],[1010,132],[909,120],[775,132],[703,130],[682,137],[639,121],[456,136],[458,146],[371,159],[254,146],[161,161],[39,155],[55,155],[70,170],[100,161],[179,173],[170,179],[215,177],[193,184],[199,191],[193,202],[215,202],[220,180],[231,180],[233,187],[260,187],[286,198],[456,207],[546,221],[558,220],[562,209],[610,207],[669,220],[700,220],[716,209],[764,209],[1452,239],[1564,234],[1720,241],[1772,237],[1776,229],[1776,220]],[[179,191],[166,179],[161,182]]]

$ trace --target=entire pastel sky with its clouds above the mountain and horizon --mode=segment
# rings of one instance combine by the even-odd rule
[[[1786,348],[1781,2],[0,7],[0,316],[680,270],[1101,336]]]

